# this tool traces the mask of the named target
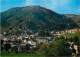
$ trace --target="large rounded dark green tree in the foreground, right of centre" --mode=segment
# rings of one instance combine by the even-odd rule
[[[57,39],[49,45],[45,54],[48,57],[71,56],[71,50],[69,49],[69,44],[64,39]]]

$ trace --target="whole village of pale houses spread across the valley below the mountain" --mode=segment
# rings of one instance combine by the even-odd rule
[[[69,38],[68,34],[80,32],[80,29],[69,29],[65,31],[51,31],[50,36],[39,36],[38,33],[30,34],[27,33],[21,35],[10,35],[5,36],[6,32],[0,34],[1,41],[1,51],[8,52],[32,52],[40,43],[46,43],[49,45],[52,41],[60,36],[64,36],[64,38]],[[73,45],[73,42],[69,42],[69,44]],[[71,48],[71,47],[70,47]],[[77,51],[77,46],[74,45],[74,48]]]

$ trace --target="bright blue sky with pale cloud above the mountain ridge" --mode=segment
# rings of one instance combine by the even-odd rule
[[[0,12],[13,7],[38,5],[60,14],[80,14],[80,0],[0,0]]]

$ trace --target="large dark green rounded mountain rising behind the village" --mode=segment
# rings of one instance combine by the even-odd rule
[[[54,11],[40,6],[16,7],[1,13],[1,31],[8,30],[63,30],[77,24]]]

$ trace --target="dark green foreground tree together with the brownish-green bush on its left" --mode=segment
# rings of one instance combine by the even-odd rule
[[[39,46],[38,54],[44,54],[45,57],[68,57],[72,54],[71,49],[69,49],[70,44],[63,38],[59,38],[49,45],[44,43]]]

